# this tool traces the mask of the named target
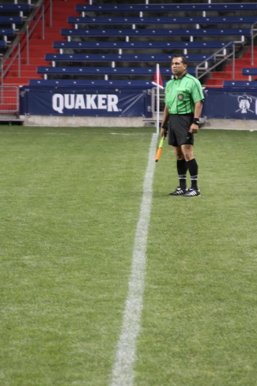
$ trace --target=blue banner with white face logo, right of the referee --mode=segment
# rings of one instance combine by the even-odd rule
[[[206,88],[202,116],[221,119],[257,119],[256,89]]]

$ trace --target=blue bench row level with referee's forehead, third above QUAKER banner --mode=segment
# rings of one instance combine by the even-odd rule
[[[191,62],[207,61],[210,55],[186,55]],[[47,62],[170,62],[173,55],[166,54],[46,54]],[[211,59],[214,61],[214,58]]]

